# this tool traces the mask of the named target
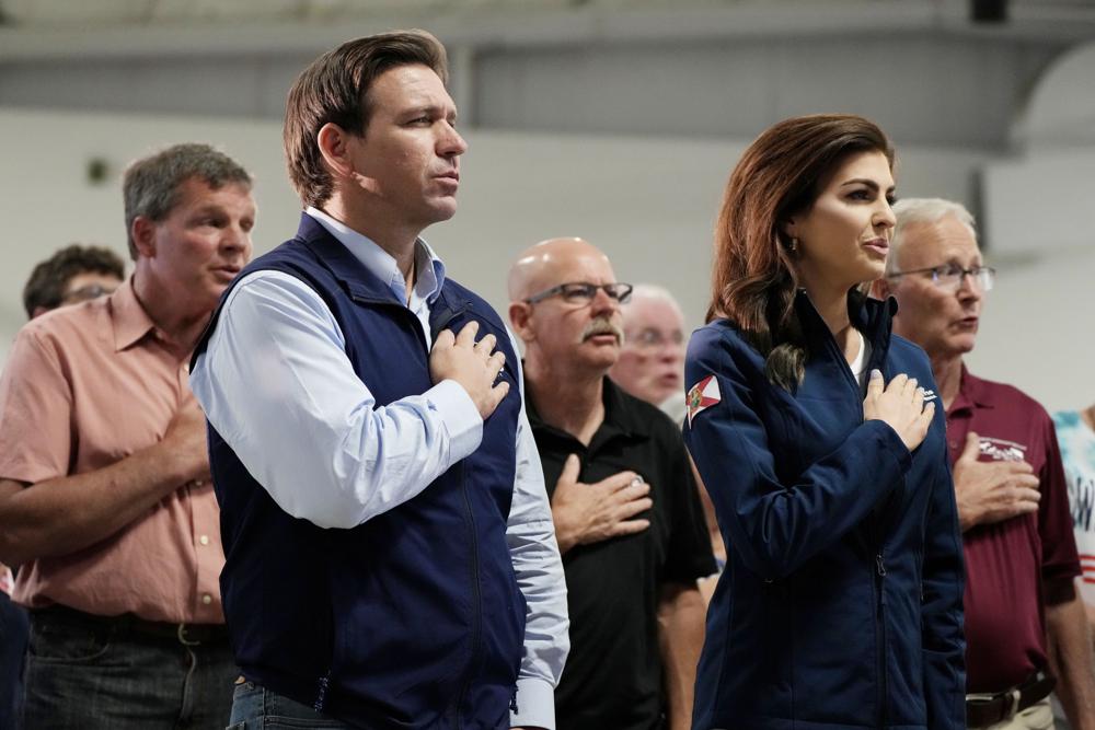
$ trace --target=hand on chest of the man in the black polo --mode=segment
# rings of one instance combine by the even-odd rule
[[[634,472],[619,472],[595,484],[578,482],[578,457],[570,454],[555,483],[551,514],[558,549],[631,535],[650,526],[633,519],[654,506],[650,485]]]

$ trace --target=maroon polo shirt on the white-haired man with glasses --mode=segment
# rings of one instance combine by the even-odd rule
[[[980,461],[1026,461],[1040,482],[1038,511],[963,535],[966,554],[966,691],[1002,692],[1046,668],[1044,587],[1080,575],[1068,487],[1053,421],[1022,391],[963,367],[947,412],[950,464],[966,434]]]

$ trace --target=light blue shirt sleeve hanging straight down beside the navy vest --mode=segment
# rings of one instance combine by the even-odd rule
[[[514,351],[517,351],[516,343]],[[523,389],[519,362],[518,375]],[[570,650],[570,623],[566,610],[566,579],[555,542],[551,502],[523,404],[522,393],[517,424],[517,474],[506,541],[528,610],[525,653],[510,726],[554,730],[555,686]]]

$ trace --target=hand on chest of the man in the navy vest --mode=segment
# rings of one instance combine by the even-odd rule
[[[509,383],[502,381],[495,385],[506,364],[506,355],[495,351],[497,338],[488,334],[476,343],[477,332],[475,321],[465,324],[459,335],[442,329],[429,352],[429,375],[435,384],[457,381],[486,419],[509,393]]]

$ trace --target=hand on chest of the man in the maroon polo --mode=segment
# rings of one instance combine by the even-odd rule
[[[978,524],[1010,520],[1038,511],[1038,477],[1030,464],[1018,462],[981,462],[980,437],[966,434],[966,445],[955,461],[955,499],[963,532]]]

